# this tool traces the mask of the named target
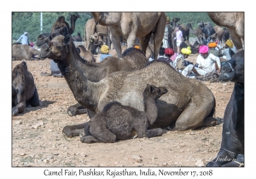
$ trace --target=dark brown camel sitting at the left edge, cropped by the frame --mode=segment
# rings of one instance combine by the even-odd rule
[[[12,71],[12,115],[23,113],[28,105],[38,107],[40,102],[32,73],[22,61]]]

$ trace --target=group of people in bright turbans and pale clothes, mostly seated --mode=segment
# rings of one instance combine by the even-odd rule
[[[164,46],[161,46],[157,60],[166,61],[185,77],[195,78],[195,76],[205,76],[207,74],[219,75],[221,63],[223,61],[229,61],[232,55],[236,53],[234,43],[232,43],[230,39],[226,41],[224,49],[218,44],[218,41],[210,42],[200,46],[196,64],[190,63],[185,59],[191,54],[191,49],[189,47],[181,50],[179,49],[178,44],[183,41],[183,38],[182,33],[179,32],[180,30],[178,28],[176,31],[177,53],[171,48],[164,48]]]

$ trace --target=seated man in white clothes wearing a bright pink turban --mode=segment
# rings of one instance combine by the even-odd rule
[[[198,67],[193,65],[186,66],[183,69],[183,76],[187,77],[191,71],[195,72],[197,76],[205,76],[207,73],[220,72],[220,60],[218,56],[209,53],[207,45],[202,45],[199,48],[199,53],[196,63]]]

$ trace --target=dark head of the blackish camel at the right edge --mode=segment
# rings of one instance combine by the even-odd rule
[[[220,79],[224,82],[244,83],[244,50],[236,52],[230,61],[221,67]]]

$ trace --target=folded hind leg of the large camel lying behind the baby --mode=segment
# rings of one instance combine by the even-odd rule
[[[199,97],[196,102],[193,100],[183,110],[183,113],[179,115],[173,130],[194,130],[204,126],[205,118],[207,118],[214,107],[214,101],[209,102],[211,99],[200,99]]]

